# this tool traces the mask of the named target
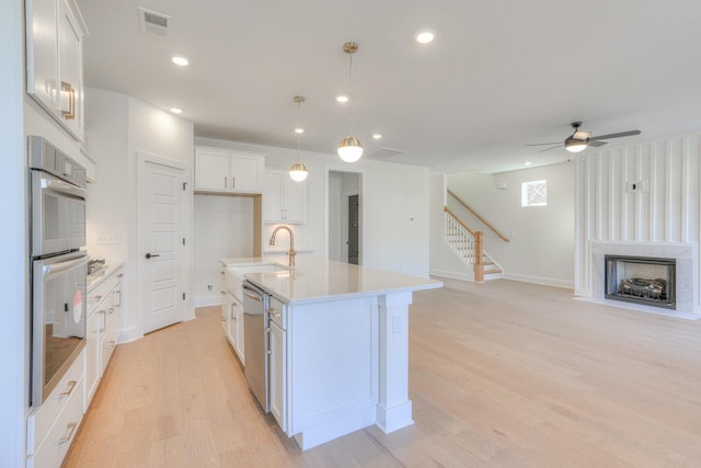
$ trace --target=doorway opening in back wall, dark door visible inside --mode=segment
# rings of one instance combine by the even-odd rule
[[[363,263],[361,174],[329,171],[329,259]]]

